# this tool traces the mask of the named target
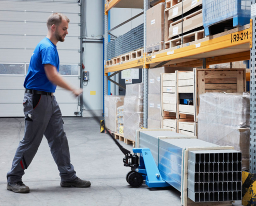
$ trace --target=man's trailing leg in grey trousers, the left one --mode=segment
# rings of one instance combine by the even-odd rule
[[[52,104],[47,95],[25,94],[23,100],[25,133],[17,148],[12,168],[7,173],[8,183],[20,182],[24,170],[31,164],[42,141],[51,117]]]

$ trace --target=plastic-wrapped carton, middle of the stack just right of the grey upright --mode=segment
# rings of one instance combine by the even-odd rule
[[[161,121],[160,94],[148,94],[148,118]]]

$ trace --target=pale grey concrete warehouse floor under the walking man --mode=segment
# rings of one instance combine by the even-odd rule
[[[131,188],[125,180],[129,168],[123,166],[123,153],[113,140],[99,133],[93,118],[64,118],[71,163],[78,177],[90,180],[89,188],[63,188],[46,138],[22,181],[28,194],[6,190],[6,173],[24,134],[23,118],[0,118],[0,205],[181,205],[180,193],[173,187],[149,189],[145,184]],[[125,148],[131,145],[121,142]],[[237,201],[233,205],[241,205]]]

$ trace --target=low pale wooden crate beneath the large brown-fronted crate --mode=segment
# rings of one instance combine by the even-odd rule
[[[178,119],[177,132],[188,136],[198,136],[198,123],[193,119]]]

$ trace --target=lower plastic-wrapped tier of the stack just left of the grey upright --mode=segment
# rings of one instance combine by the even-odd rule
[[[136,130],[143,127],[142,112],[126,112],[124,111],[124,138],[135,141]]]

